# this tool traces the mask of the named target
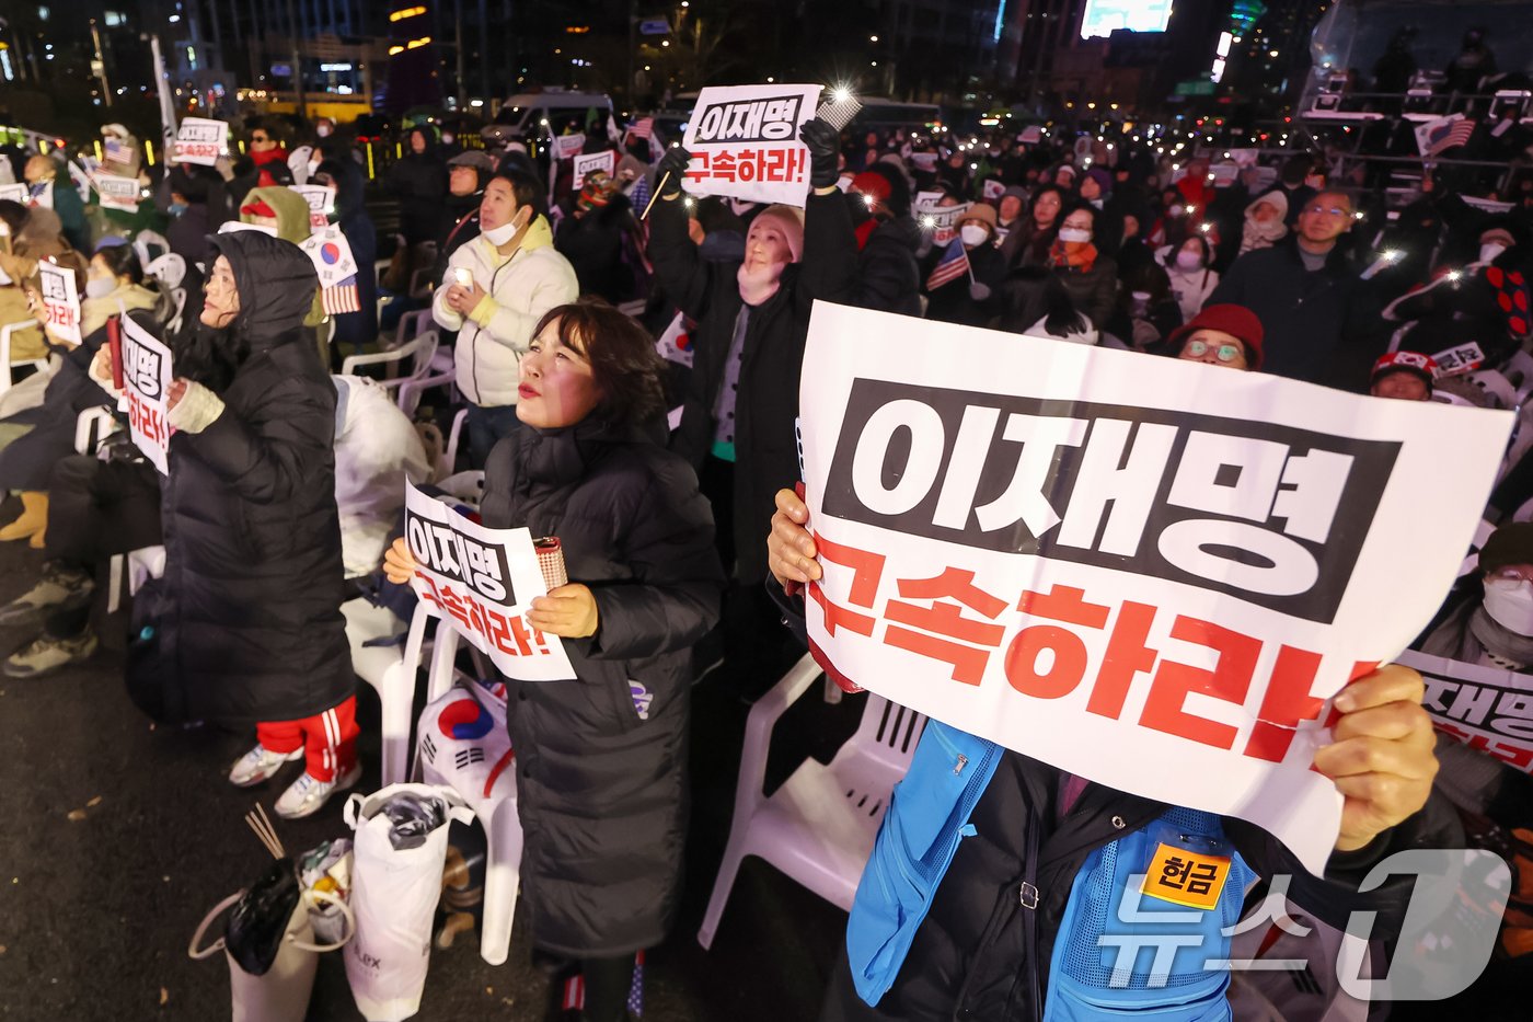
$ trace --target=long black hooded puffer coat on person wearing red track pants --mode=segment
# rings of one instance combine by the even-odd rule
[[[302,331],[317,285],[308,256],[248,230],[215,246],[241,298],[230,330],[250,354],[219,394],[222,414],[170,437],[159,655],[173,717],[248,726],[311,717],[356,689],[336,387]]]

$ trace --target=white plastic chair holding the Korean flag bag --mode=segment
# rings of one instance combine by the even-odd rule
[[[461,473],[469,476],[471,473]],[[437,483],[438,486],[442,483]],[[458,652],[460,632],[452,618],[443,618],[437,626],[437,641],[431,651],[431,671],[426,680],[426,703],[446,695],[460,674],[454,666]],[[486,698],[483,694],[477,694]],[[415,757],[415,773],[422,773],[420,757]],[[438,778],[425,778],[438,783]],[[484,922],[480,930],[480,958],[491,965],[501,965],[510,950],[510,919],[517,910],[517,893],[521,887],[521,818],[517,815],[515,776],[510,784],[497,786],[500,796],[486,796],[483,789],[458,792],[468,803],[480,826],[484,827]],[[504,790],[509,789],[509,795]],[[457,789],[454,789],[457,790]]]

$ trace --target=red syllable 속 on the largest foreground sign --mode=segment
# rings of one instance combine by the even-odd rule
[[[904,600],[889,600],[883,612],[889,621],[911,625],[924,629],[924,632],[891,623],[885,629],[883,641],[897,649],[950,664],[954,681],[980,684],[984,678],[984,668],[990,661],[990,651],[1000,645],[1006,628],[964,617],[960,605],[995,618],[1006,609],[1006,600],[975,586],[973,572],[958,568],[947,568],[935,579],[901,579],[897,588],[901,597],[932,600],[932,605],[920,606]],[[947,598],[958,603],[944,602]],[[946,638],[926,632],[937,632]]]

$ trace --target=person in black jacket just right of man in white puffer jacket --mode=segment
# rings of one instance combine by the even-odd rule
[[[575,269],[581,295],[621,305],[645,292],[639,221],[606,170],[587,173],[579,192],[564,201],[553,247]]]

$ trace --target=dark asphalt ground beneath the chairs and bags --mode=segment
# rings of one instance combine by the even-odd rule
[[[6,502],[0,520],[15,509]],[[0,603],[31,588],[41,560],[23,543],[0,543]],[[90,661],[48,678],[0,677],[0,1017],[227,1019],[224,962],[190,961],[187,942],[208,908],[270,862],[244,815],[258,799],[270,810],[296,766],[242,792],[227,770],[253,735],[153,727],[123,689],[123,621],[100,611],[103,648]],[[0,629],[0,654],[31,638],[26,629]],[[359,701],[366,767],[359,790],[373,790],[377,701],[368,686]],[[745,712],[713,677],[698,686],[687,898],[671,938],[648,954],[645,1019],[814,1019],[845,931],[845,913],[748,859],[713,950],[696,942],[728,835]],[[779,724],[768,787],[805,755],[828,760],[858,712],[855,698],[800,700]],[[290,852],[345,835],[339,798],[310,819],[276,823]],[[550,982],[515,930],[501,967],[480,959],[474,935],[432,951],[415,1017],[541,1022],[549,997]],[[308,1017],[362,1017],[339,954],[320,962]]]

